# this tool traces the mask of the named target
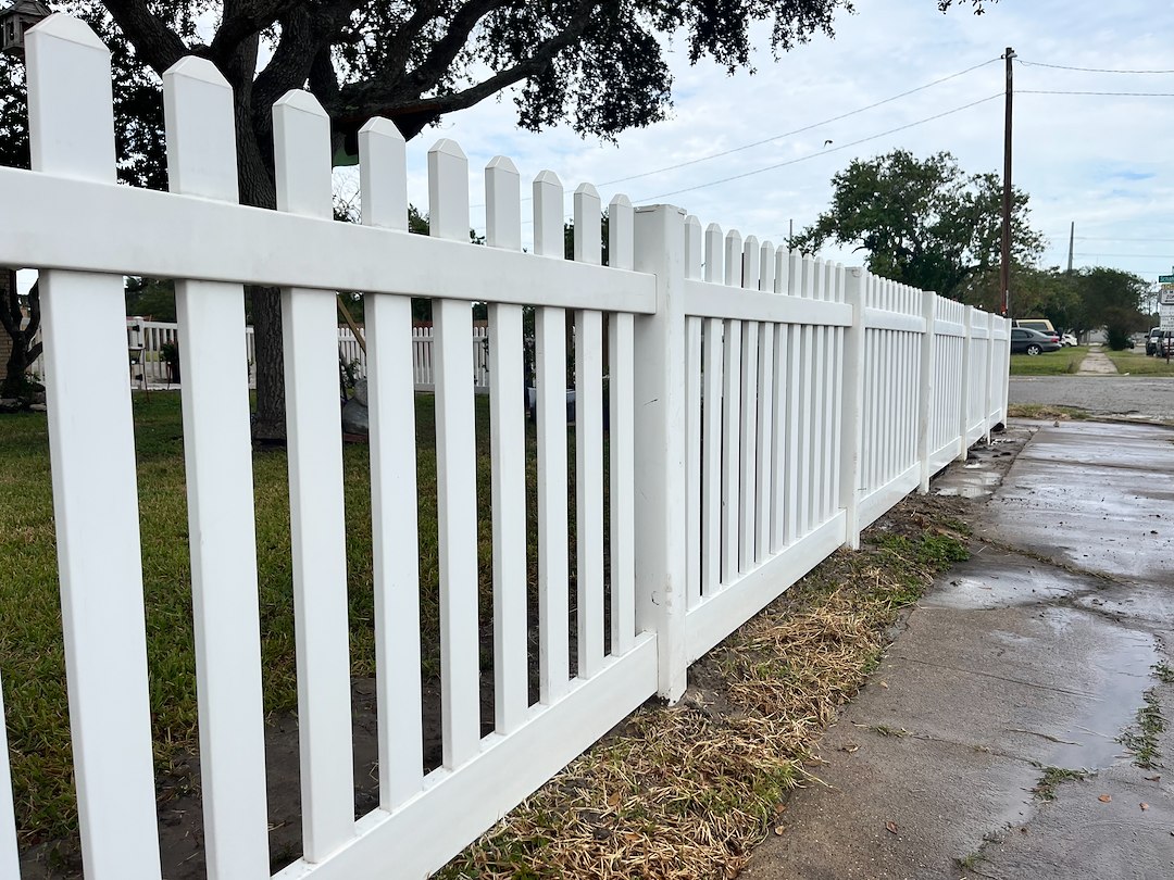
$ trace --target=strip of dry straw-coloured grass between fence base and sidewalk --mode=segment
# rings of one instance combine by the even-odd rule
[[[958,500],[902,502],[444,868],[445,880],[733,876],[785,833],[787,792],[903,609],[966,556]]]

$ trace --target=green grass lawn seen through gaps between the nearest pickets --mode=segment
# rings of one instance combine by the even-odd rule
[[[178,393],[134,397],[135,445],[156,766],[197,745],[191,584]],[[433,398],[417,395],[420,612],[424,675],[439,671]],[[483,621],[492,596],[488,399],[477,398]],[[535,528],[533,433],[528,438],[529,526]],[[573,431],[568,431],[573,463]],[[375,673],[370,459],[344,448],[351,671]],[[286,455],[254,454],[265,709],[296,706]],[[569,480],[573,508],[573,472]],[[572,515],[572,530],[574,519]],[[531,542],[531,569],[537,548]],[[572,571],[574,568],[572,567]],[[532,582],[535,580],[532,575]],[[0,675],[8,719],[18,821],[25,844],[69,834],[75,800],[58,595],[46,417],[0,417]]]

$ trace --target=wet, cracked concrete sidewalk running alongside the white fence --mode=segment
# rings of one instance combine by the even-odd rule
[[[909,616],[745,880],[1174,876],[1174,432],[1020,424],[1001,448],[1024,441],[1001,485],[999,446],[936,481],[993,490],[972,559]]]

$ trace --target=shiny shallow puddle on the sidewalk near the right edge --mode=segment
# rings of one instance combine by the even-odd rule
[[[1087,615],[1072,609],[1052,609],[1045,620],[1062,632],[1077,616],[1085,617],[1081,624],[1087,627]],[[1102,622],[1098,622],[1097,629],[1089,664],[1100,676],[1068,730],[1048,731],[1066,740],[1058,743],[1045,761],[1053,767],[1100,770],[1126,758],[1116,738],[1136,720],[1138,709],[1145,703],[1142,695],[1154,685],[1151,668],[1159,655],[1153,636]]]

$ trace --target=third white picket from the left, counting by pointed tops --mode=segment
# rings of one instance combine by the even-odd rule
[[[330,120],[308,92],[274,106],[277,207],[331,216]],[[302,834],[306,861],[355,833],[346,533],[335,297],[282,291],[297,639]]]

